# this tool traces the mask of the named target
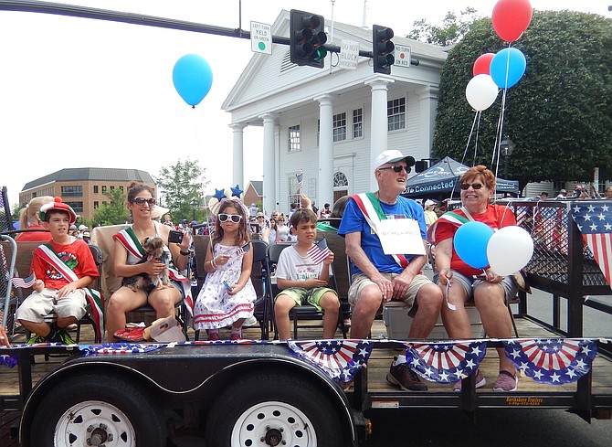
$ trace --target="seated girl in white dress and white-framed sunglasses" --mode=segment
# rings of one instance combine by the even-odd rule
[[[195,301],[194,326],[219,340],[219,328],[232,326],[230,340],[242,339],[242,325],[253,316],[257,297],[250,280],[253,250],[248,235],[248,209],[239,199],[224,198],[206,250],[206,280]]]

